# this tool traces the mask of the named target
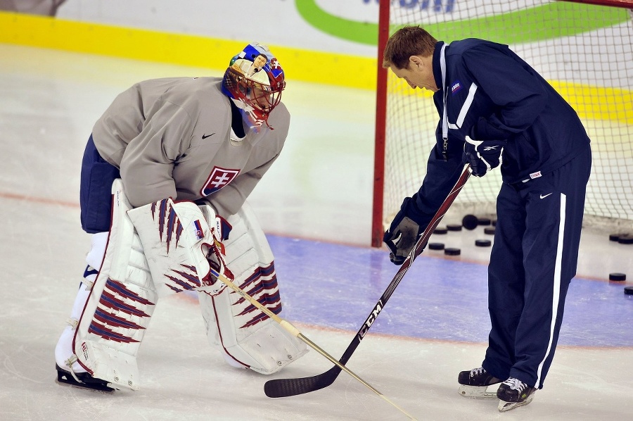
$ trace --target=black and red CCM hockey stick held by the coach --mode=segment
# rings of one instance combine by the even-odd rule
[[[338,377],[338,375],[340,374],[340,367],[342,367],[345,363],[347,363],[348,360],[350,360],[352,353],[354,353],[357,346],[359,346],[360,342],[363,340],[363,337],[369,331],[372,323],[376,321],[378,314],[381,313],[381,310],[383,310],[383,307],[387,303],[389,297],[391,296],[391,294],[393,294],[393,291],[395,291],[396,287],[402,280],[402,277],[404,277],[404,274],[407,273],[407,270],[409,270],[409,268],[411,267],[411,263],[413,263],[416,256],[422,253],[424,247],[426,247],[430,235],[433,234],[433,230],[435,230],[437,224],[440,223],[440,220],[448,211],[448,208],[455,200],[455,197],[457,196],[463,185],[466,184],[466,180],[468,180],[468,177],[470,177],[470,175],[471,172],[469,170],[469,166],[468,164],[466,164],[464,165],[463,172],[461,172],[459,180],[457,180],[453,189],[445,199],[444,203],[442,203],[440,209],[438,209],[433,216],[433,219],[430,220],[428,226],[426,227],[426,230],[424,230],[418,241],[416,241],[416,245],[411,250],[411,253],[409,253],[407,259],[404,260],[404,263],[402,263],[402,266],[399,268],[395,277],[393,277],[391,283],[383,293],[383,296],[381,296],[381,299],[378,300],[376,306],[373,307],[373,310],[371,310],[369,317],[365,320],[362,327],[357,332],[356,337],[354,337],[354,339],[352,340],[352,343],[347,346],[345,353],[343,353],[343,356],[340,358],[340,360],[338,360],[338,363],[330,370],[312,377],[269,380],[264,384],[264,393],[266,394],[266,396],[268,396],[269,398],[281,398],[284,396],[307,394],[311,391],[324,389],[324,387],[328,387],[334,382],[336,377]]]

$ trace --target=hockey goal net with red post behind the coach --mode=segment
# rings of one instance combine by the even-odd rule
[[[420,187],[439,115],[432,93],[381,68],[390,34],[421,25],[436,39],[509,44],[570,103],[592,139],[584,226],[633,228],[633,0],[381,1],[372,245]],[[447,214],[492,215],[499,170],[467,183]]]

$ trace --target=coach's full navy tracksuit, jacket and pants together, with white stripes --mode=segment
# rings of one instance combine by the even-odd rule
[[[467,134],[508,141],[488,267],[492,329],[482,366],[499,379],[542,388],[577,266],[589,137],[573,108],[508,46],[480,39],[443,46],[438,42],[433,54],[437,143],[411,211],[418,221],[433,217],[461,173]]]

